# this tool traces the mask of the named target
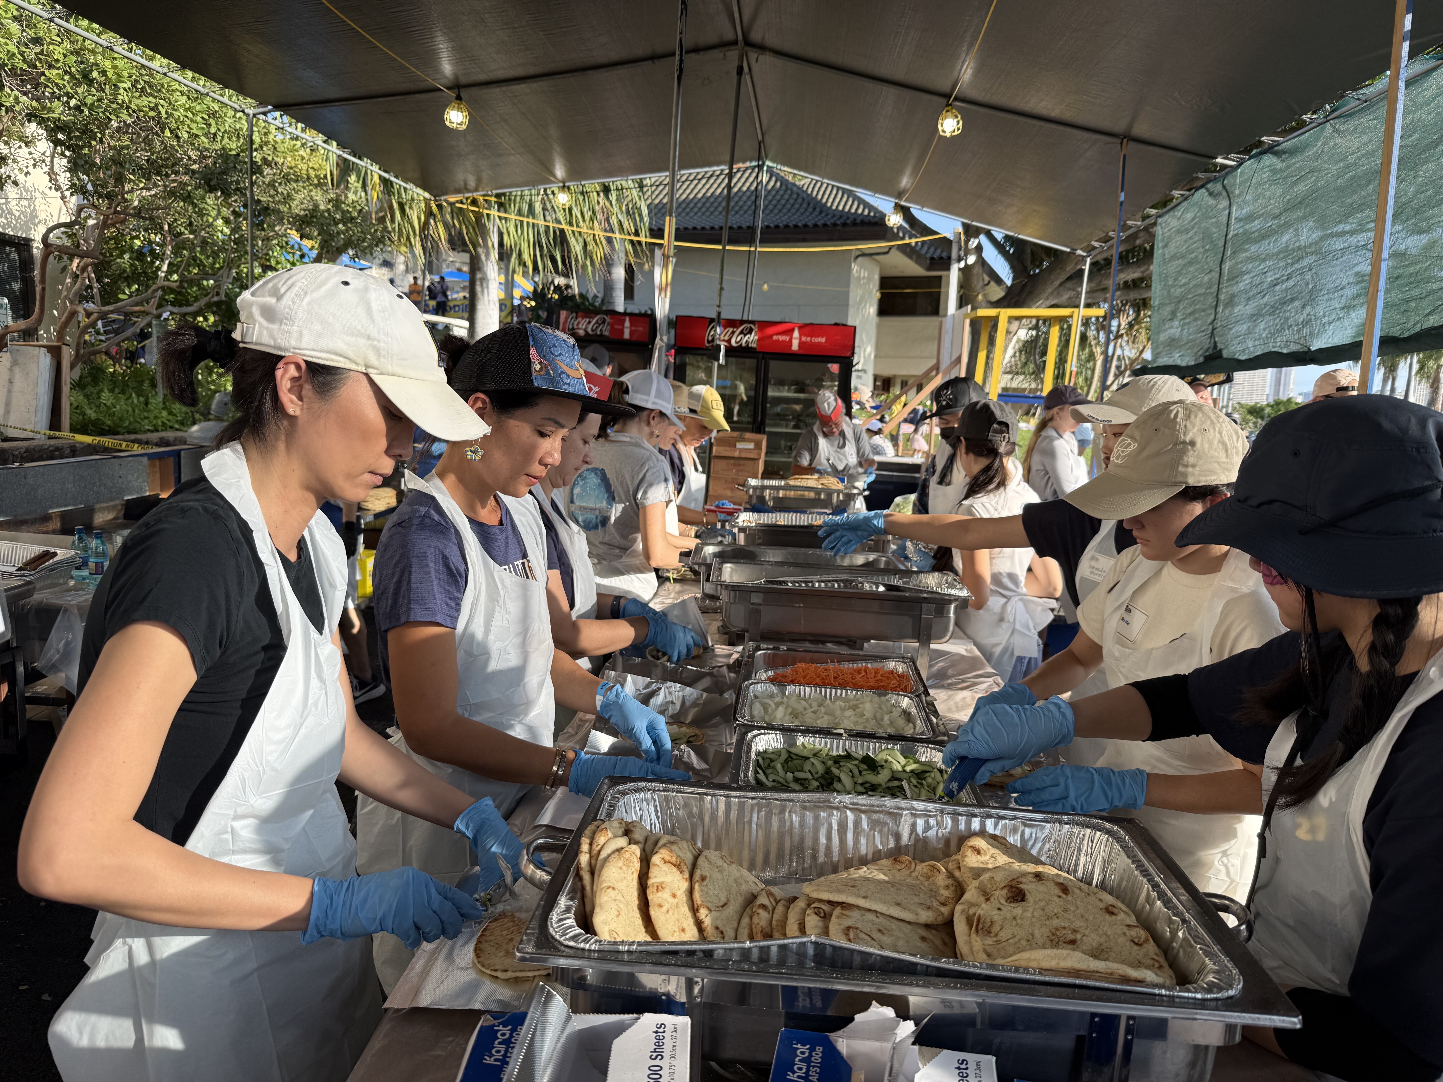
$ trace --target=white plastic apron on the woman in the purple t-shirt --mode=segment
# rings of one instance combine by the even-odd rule
[[[429,492],[460,537],[466,554],[466,591],[456,626],[456,711],[502,733],[551,746],[554,694],[551,690],[551,619],[545,604],[545,531],[541,512],[530,498],[498,496],[512,515],[527,548],[535,581],[496,567],[476,540],[470,522],[456,506],[440,478],[421,480],[405,475],[405,488]],[[417,755],[397,733],[391,743],[437,778],[478,801],[489,796],[508,815],[528,786],[481,778],[460,766]],[[455,883],[475,863],[470,843],[446,827],[417,819],[361,796],[356,804],[356,841],[362,871],[417,867]]]

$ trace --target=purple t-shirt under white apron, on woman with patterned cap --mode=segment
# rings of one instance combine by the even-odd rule
[[[466,519],[492,563],[519,579],[537,580],[511,509],[501,505],[501,522]],[[547,568],[556,554],[547,545]],[[544,573],[543,573],[544,574]],[[391,681],[385,633],[403,623],[426,622],[455,628],[466,593],[466,554],[440,503],[429,492],[408,492],[381,534],[371,571],[375,626],[381,639],[381,671]]]

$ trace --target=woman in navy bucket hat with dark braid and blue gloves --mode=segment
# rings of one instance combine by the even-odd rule
[[[1443,414],[1382,395],[1286,413],[1177,544],[1253,557],[1289,632],[1190,674],[983,707],[988,770],[1074,736],[1211,734],[1247,769],[1046,767],[1019,804],[1264,815],[1251,948],[1302,1029],[1247,1034],[1343,1079],[1443,1073]]]

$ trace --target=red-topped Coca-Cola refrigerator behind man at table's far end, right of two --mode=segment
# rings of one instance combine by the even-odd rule
[[[734,430],[766,433],[762,476],[786,478],[797,440],[817,423],[818,391],[835,391],[851,414],[856,336],[847,323],[723,319],[719,329],[706,316],[677,316],[675,378],[716,387]]]

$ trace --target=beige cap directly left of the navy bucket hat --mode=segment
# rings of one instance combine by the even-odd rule
[[[1248,437],[1190,394],[1139,414],[1107,469],[1063,499],[1094,518],[1118,519],[1150,511],[1189,485],[1235,482]]]

